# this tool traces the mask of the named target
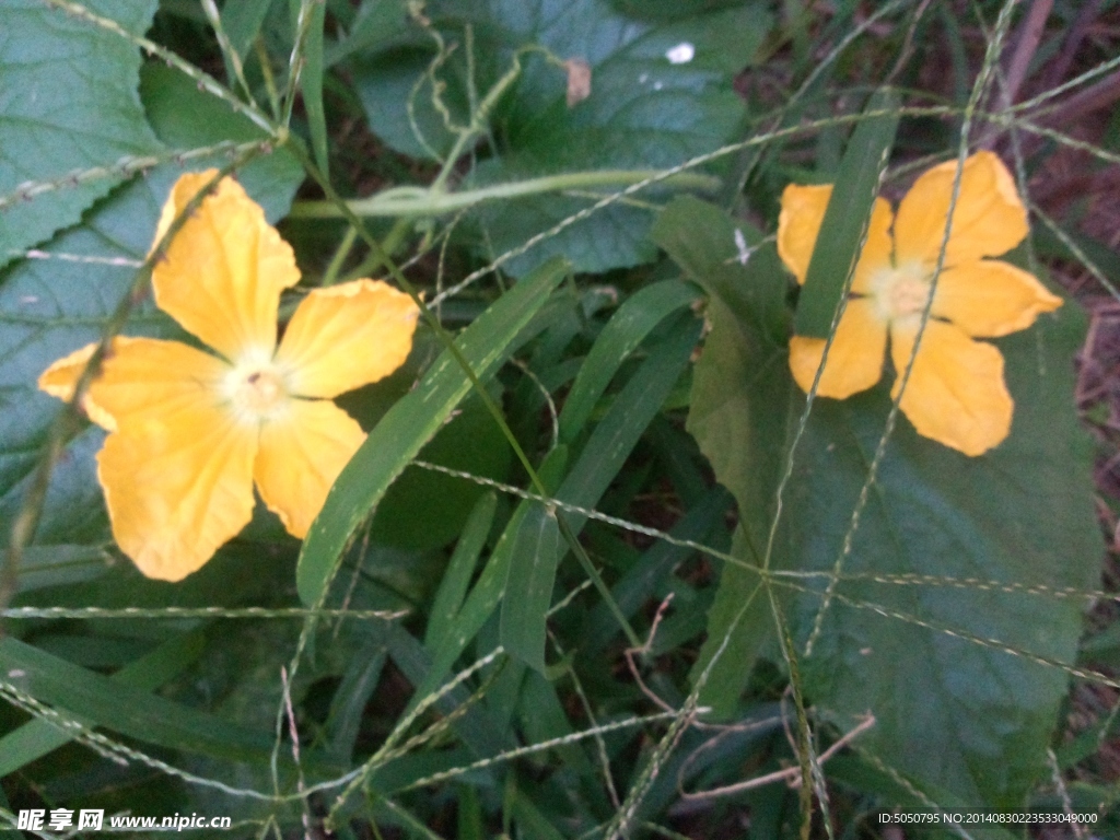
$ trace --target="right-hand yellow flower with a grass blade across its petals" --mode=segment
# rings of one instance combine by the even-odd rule
[[[842,400],[876,384],[888,333],[897,395],[930,297],[955,172],[956,161],[924,172],[896,216],[886,199],[875,199],[820,395]],[[782,194],[777,251],[799,283],[805,281],[831,193],[829,185],[790,185]],[[965,160],[931,318],[899,403],[920,435],[965,455],[980,455],[1004,440],[1014,409],[1004,383],[1004,356],[972,338],[1025,329],[1039,312],[1062,305],[1034,276],[984,259],[1018,245],[1027,230],[1027,212],[1000,159],[981,151]],[[791,339],[790,368],[803,391],[812,385],[823,351],[824,339]]]

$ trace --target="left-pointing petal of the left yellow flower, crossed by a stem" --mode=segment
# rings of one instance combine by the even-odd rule
[[[55,362],[39,376],[39,388],[69,400],[95,346]],[[118,337],[82,407],[97,426],[114,431],[137,417],[190,404],[214,405],[227,370],[221,360],[179,342]]]

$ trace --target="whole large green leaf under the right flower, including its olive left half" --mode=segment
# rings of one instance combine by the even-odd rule
[[[722,262],[735,223],[691,199],[676,207],[664,214],[659,243],[711,292],[712,330],[696,372],[689,428],[739,504],[746,528],[732,553],[757,562],[746,538],[755,552],[765,545],[790,431],[804,405],[786,367],[784,318],[774,310],[783,280],[774,267],[736,282],[740,268]],[[753,253],[746,271],[766,253]],[[931,576],[908,585],[841,580],[802,675],[812,702],[841,726],[850,727],[853,715],[876,716],[861,745],[926,790],[969,804],[1017,806],[1044,772],[1067,676],[1032,657],[1074,662],[1081,607],[1056,596],[936,581],[1093,585],[1100,544],[1071,365],[1083,330],[1067,305],[999,340],[1016,413],[1010,437],[988,455],[965,457],[918,437],[899,418],[847,553],[889,408],[886,383],[814,403],[783,498],[773,570],[829,572],[840,559],[846,575]],[[757,585],[757,575],[725,566],[701,664]],[[799,650],[812,635],[825,587],[814,579],[788,610]],[[717,708],[734,708],[752,661],[743,654],[758,646],[744,628],[765,627],[767,613],[765,598],[756,598],[731,635],[709,682]]]

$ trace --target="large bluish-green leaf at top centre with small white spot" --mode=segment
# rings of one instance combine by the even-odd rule
[[[448,40],[475,46],[474,85],[483,94],[512,66],[514,50],[548,48],[560,59],[584,59],[591,93],[567,104],[564,74],[539,56],[523,57],[524,72],[494,115],[497,157],[470,180],[480,186],[542,174],[670,167],[734,138],[745,105],[732,90],[735,74],[754,57],[772,25],[759,4],[647,22],[617,11],[607,0],[445,0],[427,9]],[[437,73],[459,124],[468,120],[465,46]],[[409,155],[429,152],[412,136],[410,93],[433,56],[431,39],[400,39],[391,52],[367,57],[355,83],[371,128]],[[426,82],[412,99],[424,141],[446,153],[454,133],[431,104]],[[476,218],[487,249],[501,253],[584,209],[594,196],[547,195],[480,207]],[[508,264],[522,274],[543,255],[562,253],[577,271],[603,271],[648,261],[650,208],[616,204],[576,224]]]

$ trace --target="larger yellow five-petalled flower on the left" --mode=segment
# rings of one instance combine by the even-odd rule
[[[214,170],[184,175],[156,241]],[[110,435],[97,454],[113,536],[151,578],[180,580],[250,521],[253,484],[284,528],[307,533],[365,439],[330,400],[396,370],[417,307],[372,280],[311,291],[277,346],[291,248],[225,178],[152,272],[157,305],[213,348],[113,339],[84,408]],[[39,388],[67,400],[94,345],[50,365]]]

